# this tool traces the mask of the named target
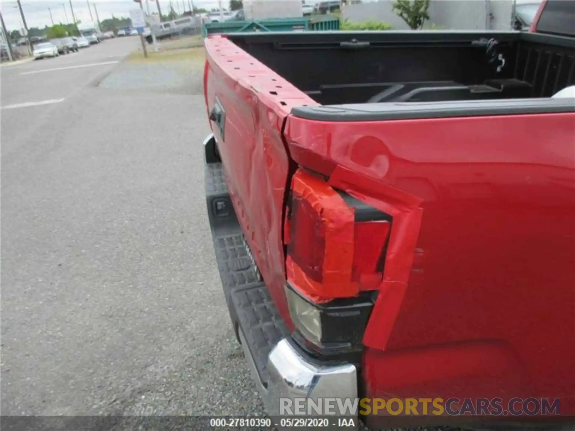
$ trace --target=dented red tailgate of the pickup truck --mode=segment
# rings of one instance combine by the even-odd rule
[[[225,37],[209,37],[205,48],[208,115],[217,101],[223,128],[214,116],[210,126],[233,206],[270,294],[290,325],[282,242],[289,156],[282,129],[294,103],[315,102]]]

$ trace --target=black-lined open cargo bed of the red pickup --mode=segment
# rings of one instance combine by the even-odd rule
[[[548,98],[575,80],[573,39],[519,32],[229,34],[321,105]]]

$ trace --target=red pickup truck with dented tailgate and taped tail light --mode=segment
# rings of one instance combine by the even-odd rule
[[[574,22],[205,40],[210,227],[271,415],[573,420]]]

